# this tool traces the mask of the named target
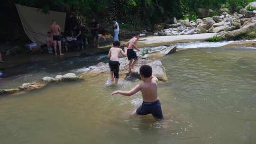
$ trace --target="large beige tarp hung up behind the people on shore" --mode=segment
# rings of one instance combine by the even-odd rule
[[[21,20],[24,31],[30,40],[39,45],[47,43],[47,32],[50,31],[52,20],[64,31],[66,13],[58,11],[49,11],[49,14],[44,14],[38,11],[37,8],[27,7],[16,4],[18,15]]]

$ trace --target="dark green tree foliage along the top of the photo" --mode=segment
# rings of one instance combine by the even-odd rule
[[[167,18],[197,18],[197,9],[213,9],[215,13],[222,7],[230,12],[238,11],[254,0],[15,0],[18,4],[37,7],[48,11],[75,13],[77,18],[88,21],[94,17],[109,25],[118,19],[123,27],[149,27]]]

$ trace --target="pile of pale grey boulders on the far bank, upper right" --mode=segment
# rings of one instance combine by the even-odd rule
[[[193,35],[202,33],[220,33],[223,39],[236,38],[255,27],[256,10],[240,9],[230,14],[228,9],[220,9],[219,16],[207,17],[189,21],[180,19],[176,24],[155,25],[154,36]],[[237,30],[237,31],[234,31]],[[228,33],[225,33],[228,32]],[[234,35],[234,36],[233,36]]]

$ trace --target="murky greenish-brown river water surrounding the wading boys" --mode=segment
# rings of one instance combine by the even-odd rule
[[[141,93],[110,96],[140,81],[108,87],[99,76],[0,97],[0,144],[256,144],[256,49],[186,49],[161,61],[169,79],[158,84],[164,120],[130,115]],[[29,73],[79,73],[89,66],[83,62],[63,69],[48,64],[45,73],[1,80],[11,86]]]

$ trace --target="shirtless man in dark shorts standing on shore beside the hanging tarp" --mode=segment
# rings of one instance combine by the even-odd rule
[[[55,20],[53,20],[53,23],[51,25],[51,33],[53,35],[55,55],[57,55],[57,43],[59,45],[60,55],[64,55],[61,53],[61,28],[59,25],[56,24]]]

